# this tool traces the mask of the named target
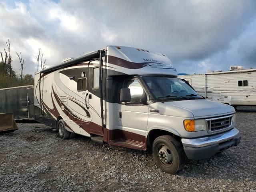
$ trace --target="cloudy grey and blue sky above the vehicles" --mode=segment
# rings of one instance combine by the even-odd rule
[[[180,73],[256,68],[255,0],[4,0],[0,1],[0,50],[10,39],[24,55],[24,71],[37,70],[107,45],[166,54]]]

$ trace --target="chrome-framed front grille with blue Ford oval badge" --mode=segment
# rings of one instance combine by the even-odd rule
[[[233,115],[206,119],[209,132],[228,129],[232,126]]]

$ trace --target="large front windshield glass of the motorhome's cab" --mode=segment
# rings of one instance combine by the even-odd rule
[[[203,98],[179,78],[164,76],[142,77],[155,99],[194,99]]]

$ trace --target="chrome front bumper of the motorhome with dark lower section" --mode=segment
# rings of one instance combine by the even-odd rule
[[[188,159],[203,159],[240,144],[241,136],[236,128],[216,135],[200,138],[182,138]]]

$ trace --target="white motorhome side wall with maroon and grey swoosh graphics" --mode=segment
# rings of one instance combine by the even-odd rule
[[[90,65],[90,68],[93,67],[95,66]],[[36,120],[56,126],[56,120],[60,117],[70,132],[84,136],[90,136],[91,133],[101,135],[102,132],[96,132],[102,130],[99,116],[100,98],[98,91],[91,88],[88,69],[88,63],[82,63],[43,74],[40,84],[42,114],[39,81],[35,84]],[[83,75],[86,77],[87,89],[78,91],[77,80]],[[35,79],[39,79],[38,74]]]

